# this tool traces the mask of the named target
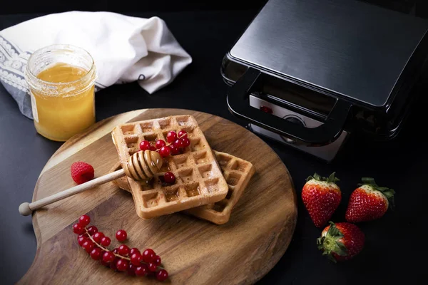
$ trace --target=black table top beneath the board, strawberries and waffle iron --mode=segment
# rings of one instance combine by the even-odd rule
[[[138,14],[164,19],[193,56],[193,63],[170,86],[152,95],[136,83],[96,93],[96,119],[139,108],[187,108],[246,125],[228,112],[228,87],[220,77],[220,63],[255,14],[256,10]],[[0,16],[0,30],[34,16],[38,15]],[[424,263],[417,257],[423,259],[427,252],[422,244],[428,199],[422,113],[426,112],[427,101],[426,95],[419,99],[396,140],[372,142],[351,137],[331,164],[264,139],[290,170],[298,198],[298,220],[290,247],[260,284],[413,284],[422,278]],[[22,217],[18,206],[31,200],[39,173],[60,146],[60,142],[36,134],[33,121],[19,113],[15,101],[0,85],[1,284],[18,281],[34,259],[36,239],[31,217]],[[317,249],[315,240],[320,229],[312,224],[300,198],[308,175],[318,172],[325,176],[333,171],[340,177],[342,188],[342,203],[332,217],[335,222],[344,221],[347,200],[360,177],[374,177],[379,185],[397,192],[394,211],[382,219],[359,224],[366,234],[365,249],[355,259],[340,264],[328,261]]]

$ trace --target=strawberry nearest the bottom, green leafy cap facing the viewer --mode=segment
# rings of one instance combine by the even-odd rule
[[[321,237],[317,238],[318,249],[332,261],[352,259],[364,247],[365,234],[355,224],[330,222],[322,230]]]

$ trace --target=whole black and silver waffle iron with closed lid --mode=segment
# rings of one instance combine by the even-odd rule
[[[427,73],[427,31],[361,1],[267,1],[223,58],[228,108],[327,162],[351,133],[391,140]]]

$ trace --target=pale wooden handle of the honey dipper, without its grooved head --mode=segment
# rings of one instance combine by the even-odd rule
[[[28,216],[34,210],[44,207],[47,204],[52,204],[56,201],[65,199],[66,197],[76,195],[80,192],[83,192],[85,190],[91,189],[98,185],[104,184],[111,180],[116,180],[117,178],[122,177],[124,175],[125,175],[125,171],[123,171],[123,169],[117,170],[115,172],[108,173],[107,175],[103,175],[101,177],[95,178],[91,181],[82,183],[81,185],[77,185],[77,186],[71,187],[70,189],[58,192],[54,195],[45,197],[43,199],[39,199],[38,201],[35,201],[32,203],[27,203],[27,202],[22,203],[21,205],[19,205],[19,214],[22,214],[23,216]]]

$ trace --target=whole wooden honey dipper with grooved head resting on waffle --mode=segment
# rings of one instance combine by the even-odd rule
[[[131,155],[125,165],[122,166],[121,170],[108,173],[101,177],[97,177],[91,181],[82,183],[71,187],[70,189],[63,190],[54,195],[39,199],[35,202],[24,202],[19,205],[19,213],[23,216],[28,216],[36,209],[44,207],[48,204],[52,204],[66,197],[76,195],[85,190],[91,189],[98,185],[104,184],[106,182],[116,180],[119,177],[124,175],[131,177],[133,180],[148,180],[151,177],[154,177],[156,173],[161,170],[163,160],[161,155],[158,152],[153,150],[139,151]]]

